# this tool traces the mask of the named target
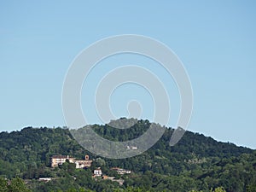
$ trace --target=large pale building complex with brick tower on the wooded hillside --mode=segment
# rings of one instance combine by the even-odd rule
[[[54,155],[51,158],[51,167],[59,166],[69,160],[70,163],[74,163],[77,169],[82,169],[84,167],[90,167],[92,160],[89,159],[89,155],[85,155],[85,160],[76,160],[69,155]]]

